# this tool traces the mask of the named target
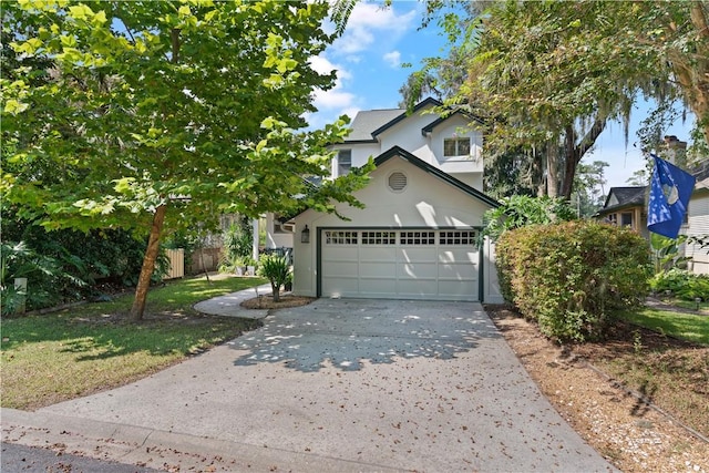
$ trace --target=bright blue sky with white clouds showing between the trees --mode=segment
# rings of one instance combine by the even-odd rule
[[[419,69],[424,58],[445,53],[445,38],[435,28],[419,30],[424,6],[418,1],[394,0],[391,8],[378,2],[359,2],[354,7],[345,34],[312,65],[321,72],[338,71],[335,89],[316,94],[319,112],[309,115],[310,126],[318,128],[339,115],[354,117],[359,110],[393,109],[401,96],[399,88]],[[412,68],[402,68],[411,63]],[[624,186],[630,175],[645,166],[640,151],[633,146],[635,133],[647,106],[640,104],[633,114],[628,146],[623,127],[609,124],[584,162],[605,161],[608,186]],[[692,121],[667,130],[687,141]],[[608,188],[606,187],[606,193]]]

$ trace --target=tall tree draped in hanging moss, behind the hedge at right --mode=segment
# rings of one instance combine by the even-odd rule
[[[608,120],[624,121],[627,140],[640,95],[660,106],[682,96],[709,136],[706,1],[476,3],[466,21],[444,22],[470,52],[469,81],[446,105],[487,116],[486,153],[542,151],[548,195],[569,197]]]

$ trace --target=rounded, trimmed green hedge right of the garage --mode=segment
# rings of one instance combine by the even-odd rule
[[[559,341],[603,338],[610,311],[638,306],[653,273],[640,235],[589,220],[505,232],[496,254],[505,299]]]

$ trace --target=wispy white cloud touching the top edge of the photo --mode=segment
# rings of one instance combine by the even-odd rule
[[[354,54],[368,50],[376,42],[395,44],[417,17],[411,10],[397,14],[393,7],[381,7],[377,3],[358,2],[349,18],[345,34],[332,44],[338,54]]]

